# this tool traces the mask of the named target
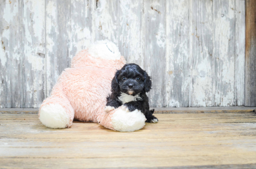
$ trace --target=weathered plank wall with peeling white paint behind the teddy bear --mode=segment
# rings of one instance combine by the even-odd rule
[[[0,108],[39,107],[98,39],[153,78],[151,107],[244,103],[244,0],[0,0]]]

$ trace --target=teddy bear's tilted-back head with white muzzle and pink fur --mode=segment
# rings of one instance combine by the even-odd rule
[[[118,47],[109,40],[99,40],[87,50],[77,53],[71,61],[71,67],[95,66],[100,68],[121,69],[126,60]]]

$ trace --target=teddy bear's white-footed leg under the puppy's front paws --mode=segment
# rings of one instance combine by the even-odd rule
[[[135,131],[144,127],[144,114],[140,110],[129,111],[124,105],[121,107],[102,113],[100,124],[104,127],[117,131]]]

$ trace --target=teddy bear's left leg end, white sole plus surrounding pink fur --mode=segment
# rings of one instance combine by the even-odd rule
[[[74,110],[67,98],[48,97],[40,107],[39,119],[46,127],[52,129],[70,127]]]

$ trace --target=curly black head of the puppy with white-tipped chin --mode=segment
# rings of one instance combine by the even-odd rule
[[[121,70],[116,71],[111,87],[113,92],[121,91],[134,96],[141,92],[148,92],[151,84],[148,73],[143,71],[139,65],[126,64]]]

